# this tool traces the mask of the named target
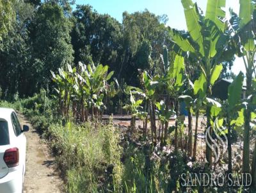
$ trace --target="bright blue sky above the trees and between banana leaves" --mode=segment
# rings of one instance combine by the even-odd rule
[[[205,12],[207,0],[194,0]],[[186,20],[180,0],[76,0],[76,4],[90,4],[99,13],[108,13],[119,22],[122,22],[122,13],[143,11],[146,8],[156,15],[168,15],[167,25],[176,29],[186,29]],[[234,12],[239,12],[239,0],[226,0],[225,11],[232,8]],[[227,17],[229,17],[227,15]],[[237,58],[232,71],[234,73],[244,72],[243,60]]]

